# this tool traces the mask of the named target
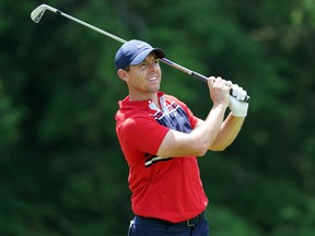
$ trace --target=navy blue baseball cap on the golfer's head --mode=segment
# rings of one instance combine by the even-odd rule
[[[141,40],[129,40],[125,43],[115,56],[116,69],[125,69],[127,66],[136,66],[141,63],[148,55],[154,51],[158,58],[164,58],[165,54],[160,48],[153,48],[145,42]]]

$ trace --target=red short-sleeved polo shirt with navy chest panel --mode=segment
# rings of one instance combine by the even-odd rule
[[[177,98],[160,92],[159,99],[162,110],[151,101],[120,101],[116,132],[129,165],[133,213],[177,223],[200,214],[208,204],[197,158],[159,157],[156,152],[170,129],[188,133],[198,119]]]

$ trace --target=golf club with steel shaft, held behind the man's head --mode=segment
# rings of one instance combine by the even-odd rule
[[[62,15],[62,16],[65,16],[65,17],[67,17],[67,19],[69,19],[69,20],[72,20],[72,21],[74,21],[74,22],[77,22],[77,23],[79,23],[79,24],[82,24],[82,25],[84,25],[84,26],[86,26],[86,27],[89,27],[89,28],[91,28],[91,30],[93,30],[93,31],[96,31],[96,32],[98,32],[98,33],[101,33],[101,34],[103,34],[103,35],[105,35],[105,36],[107,36],[107,37],[110,37],[110,38],[113,38],[113,39],[115,39],[115,40],[117,40],[117,42],[120,42],[121,44],[125,44],[125,43],[127,42],[127,40],[125,40],[125,39],[122,39],[122,38],[120,38],[120,37],[117,37],[117,36],[113,35],[113,34],[110,34],[110,33],[108,33],[108,32],[105,32],[105,31],[103,31],[103,30],[101,30],[101,28],[98,28],[98,27],[95,27],[95,26],[93,26],[93,25],[91,25],[91,24],[89,24],[89,23],[86,23],[86,22],[83,22],[83,21],[81,21],[81,20],[79,20],[79,19],[75,19],[75,17],[69,15],[69,14],[66,14],[65,12],[61,12],[61,11],[59,11],[59,10],[57,10],[57,9],[55,9],[55,8],[51,8],[50,5],[47,5],[47,4],[40,4],[40,5],[38,5],[36,9],[34,9],[34,10],[32,11],[32,13],[31,13],[31,19],[32,19],[35,23],[38,23],[38,22],[40,21],[42,16],[44,15],[44,13],[45,13],[46,10],[51,11],[51,12],[54,12],[54,13],[56,13],[56,14]],[[183,71],[183,72],[185,72],[185,73],[187,73],[187,74],[189,74],[189,75],[191,75],[191,76],[194,76],[194,78],[202,81],[202,82],[207,82],[207,81],[208,81],[208,78],[207,78],[207,76],[205,76],[205,75],[202,75],[202,74],[200,74],[200,73],[197,73],[197,72],[195,72],[195,71],[191,71],[191,70],[189,70],[189,69],[187,69],[187,68],[185,68],[185,67],[183,67],[183,66],[180,66],[180,64],[177,64],[177,63],[175,63],[174,61],[171,61],[171,60],[168,60],[168,59],[166,59],[166,58],[161,58],[160,60],[161,60],[162,62],[166,63],[166,64],[170,64],[171,67],[173,67],[173,68],[175,68],[175,69],[177,69],[177,70],[180,70],[180,71]],[[232,90],[230,91],[230,94],[232,95]],[[232,96],[233,96],[233,95],[232,95]],[[248,103],[248,102],[249,102],[249,98],[250,98],[250,97],[249,97],[248,95],[246,95],[245,98],[244,98],[244,101],[242,101],[242,102]]]

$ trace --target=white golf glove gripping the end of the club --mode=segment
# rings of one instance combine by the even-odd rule
[[[246,117],[248,110],[248,103],[243,102],[247,92],[237,84],[232,86],[232,95],[230,95],[230,109],[234,117]]]

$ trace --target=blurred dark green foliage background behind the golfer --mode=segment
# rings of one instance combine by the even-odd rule
[[[314,0],[1,0],[1,236],[122,236],[132,217],[121,44],[48,11],[35,24],[42,3],[247,90],[236,141],[199,158],[211,235],[315,235]],[[206,118],[207,85],[161,67],[162,90]]]

